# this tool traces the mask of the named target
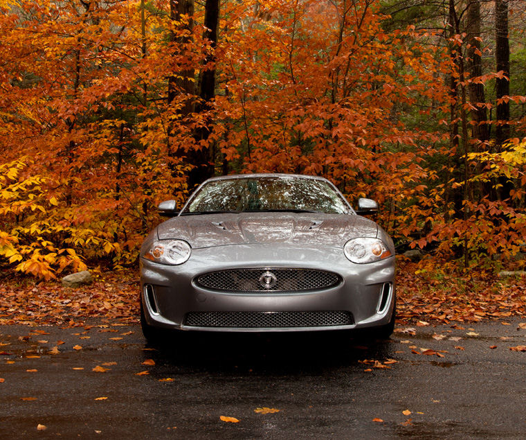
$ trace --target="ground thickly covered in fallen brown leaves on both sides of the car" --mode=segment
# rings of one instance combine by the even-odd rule
[[[72,289],[57,281],[2,274],[0,324],[79,326],[93,317],[137,322],[137,272],[107,272],[94,278],[91,285]],[[526,316],[526,279],[520,277],[422,273],[415,263],[401,261],[397,295],[399,324],[425,326]]]

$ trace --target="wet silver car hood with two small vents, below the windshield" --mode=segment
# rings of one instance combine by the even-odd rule
[[[157,227],[158,238],[201,247],[288,243],[343,247],[354,237],[376,237],[377,224],[359,215],[325,213],[226,213],[181,215]]]

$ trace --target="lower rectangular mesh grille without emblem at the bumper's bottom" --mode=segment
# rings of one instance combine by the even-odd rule
[[[351,313],[325,312],[190,312],[185,325],[224,328],[327,327],[354,324]]]

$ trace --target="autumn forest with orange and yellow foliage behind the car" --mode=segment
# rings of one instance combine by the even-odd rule
[[[135,270],[158,202],[248,172],[377,200],[420,271],[524,264],[523,1],[0,5],[4,273]]]

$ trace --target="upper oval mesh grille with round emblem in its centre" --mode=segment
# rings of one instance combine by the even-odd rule
[[[341,276],[314,269],[233,269],[209,272],[196,284],[220,292],[298,292],[321,290],[341,283]]]

